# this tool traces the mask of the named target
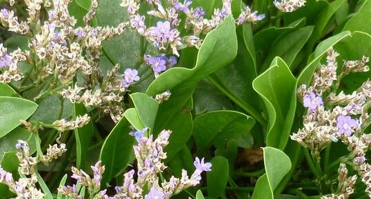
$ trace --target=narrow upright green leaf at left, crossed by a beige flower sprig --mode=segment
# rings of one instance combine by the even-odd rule
[[[73,118],[74,120],[77,116],[83,116],[87,114],[86,107],[81,103],[74,103],[73,105]],[[76,167],[79,169],[88,169],[88,148],[90,145],[90,140],[94,134],[94,127],[92,121],[90,120],[88,124],[81,128],[74,129],[74,137],[76,138]]]

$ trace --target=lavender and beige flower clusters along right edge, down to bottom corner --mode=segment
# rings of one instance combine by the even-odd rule
[[[337,74],[337,56],[334,50],[328,50],[327,61],[314,73],[309,87],[301,85],[298,94],[303,98],[303,106],[308,108],[303,116],[303,128],[292,134],[303,147],[308,147],[314,159],[320,159],[320,151],[332,142],[348,145],[350,154],[346,160],[352,161],[353,169],[358,171],[361,180],[365,183],[365,192],[371,196],[371,165],[365,162],[365,152],[371,145],[371,135],[364,130],[370,125],[371,80],[365,81],[361,87],[345,94],[343,91],[334,92],[339,88],[341,78],[350,72],[367,72],[366,65],[369,59],[363,56],[359,61],[344,61],[340,74]],[[323,196],[322,198],[348,198],[354,191],[353,185],[357,176],[345,178],[344,165],[340,165],[339,194]],[[340,173],[342,173],[340,175]],[[341,179],[340,179],[341,178]],[[345,184],[345,185],[344,185]]]

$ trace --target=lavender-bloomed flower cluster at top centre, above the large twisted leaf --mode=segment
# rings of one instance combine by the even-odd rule
[[[148,27],[145,23],[146,17],[139,14],[141,4],[138,1],[123,0],[121,3],[121,6],[126,7],[128,14],[130,14],[130,26],[152,43],[159,52],[157,56],[148,54],[144,56],[147,65],[152,67],[155,77],[177,64],[175,56],[167,58],[166,54],[179,56],[179,50],[183,48],[200,48],[201,34],[207,34],[216,28],[231,13],[230,0],[223,0],[222,8],[215,9],[211,19],[205,19],[206,13],[203,8],[191,8],[192,1],[190,0],[184,0],[183,3],[179,0],[167,1],[168,8],[164,8],[159,0],[144,1],[152,9],[147,13],[161,20],[152,27]],[[185,15],[185,19],[184,23],[181,23],[183,15]],[[263,18],[264,14],[257,15],[257,12],[251,12],[250,8],[246,7],[236,23],[237,25],[246,22],[256,23]],[[181,35],[181,27],[179,27],[181,24],[184,24],[184,29],[188,32],[184,36]]]

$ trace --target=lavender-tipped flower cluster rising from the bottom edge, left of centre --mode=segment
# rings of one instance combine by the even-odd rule
[[[163,148],[168,145],[170,137],[170,130],[163,130],[159,136],[153,140],[153,136],[148,138],[144,136],[147,129],[142,129],[137,132],[131,132],[135,136],[138,144],[134,146],[134,154],[137,159],[137,180],[134,180],[134,169],[131,169],[126,174],[123,174],[123,185],[115,187],[116,194],[108,196],[107,189],[100,190],[101,178],[104,172],[104,166],[101,161],[92,166],[94,173],[93,178],[90,178],[85,171],[72,167],[73,175],[71,178],[77,180],[77,183],[86,187],[88,193],[92,198],[145,198],[145,199],[165,199],[183,191],[188,187],[198,185],[201,180],[201,173],[203,171],[211,171],[211,163],[205,163],[204,158],[201,160],[196,158],[194,160],[194,167],[196,168],[192,176],[188,176],[187,171],[183,169],[181,178],[174,176],[170,180],[159,182],[159,173],[166,169],[166,166],[161,163],[161,160],[166,159],[166,153]],[[143,191],[144,187],[150,187],[149,191]],[[59,189],[60,193],[72,198],[81,199],[83,196],[79,195],[77,185],[68,185]]]

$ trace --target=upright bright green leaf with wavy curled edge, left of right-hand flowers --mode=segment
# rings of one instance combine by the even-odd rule
[[[270,68],[252,82],[254,90],[263,98],[269,116],[267,146],[283,149],[287,143],[294,121],[296,98],[292,93],[296,91],[296,82],[288,65],[279,57],[274,58]]]

